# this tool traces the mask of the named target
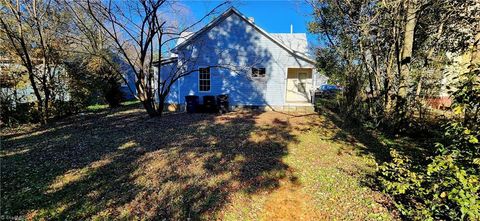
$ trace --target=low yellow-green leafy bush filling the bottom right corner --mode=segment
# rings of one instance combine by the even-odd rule
[[[442,151],[426,168],[391,151],[393,161],[379,167],[379,180],[403,215],[426,220],[480,219],[479,134],[468,137],[469,143],[462,147],[457,142],[445,147],[438,144]],[[475,146],[471,157],[461,154],[460,150]]]

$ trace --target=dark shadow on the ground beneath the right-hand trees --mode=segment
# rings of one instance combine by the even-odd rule
[[[435,151],[433,146],[437,140],[429,135],[408,136],[389,136],[381,131],[368,129],[356,120],[349,120],[327,108],[319,108],[320,114],[325,116],[334,127],[339,128],[332,136],[332,140],[343,142],[347,145],[341,145],[338,155],[356,154],[358,156],[372,157],[377,165],[385,162],[391,162],[390,151],[396,150],[398,153],[406,156],[412,164],[427,165],[429,157]],[[433,134],[433,133],[429,133]],[[339,168],[341,170],[341,168]],[[344,171],[349,174],[349,171]],[[381,191],[382,187],[378,180],[378,174],[364,172],[359,176],[359,184],[372,190]],[[357,176],[358,174],[351,174]],[[387,208],[392,214],[399,217],[399,212],[390,198],[381,197],[376,199],[378,203]]]

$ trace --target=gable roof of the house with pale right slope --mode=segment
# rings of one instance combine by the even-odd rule
[[[245,15],[240,13],[236,8],[231,7],[226,10],[222,15],[208,23],[205,27],[200,29],[199,31],[192,33],[192,32],[183,32],[181,33],[177,45],[171,50],[173,53],[176,53],[179,49],[185,47],[186,45],[190,44],[194,39],[198,36],[203,34],[204,32],[212,29],[215,25],[220,23],[221,21],[225,20],[232,14],[238,15],[242,20],[244,20],[247,24],[251,25],[254,29],[258,32],[263,34],[265,37],[276,43],[278,46],[289,52],[290,54],[301,58],[309,63],[315,64],[315,61],[309,58],[304,52],[306,51],[307,47],[307,37],[305,33],[277,33],[277,34],[269,34],[255,23],[250,21]],[[287,46],[288,45],[288,46]]]

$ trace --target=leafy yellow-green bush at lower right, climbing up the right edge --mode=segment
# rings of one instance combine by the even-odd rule
[[[379,181],[400,212],[420,220],[480,220],[480,84],[470,72],[457,86],[454,117],[445,142],[428,165],[414,165],[396,151],[379,166]]]

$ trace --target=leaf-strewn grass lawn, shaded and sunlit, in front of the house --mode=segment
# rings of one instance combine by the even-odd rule
[[[46,127],[3,129],[1,136],[2,217],[397,217],[369,180],[388,148],[403,141],[358,136],[334,115],[152,119],[132,104]]]

